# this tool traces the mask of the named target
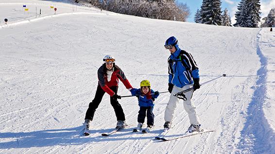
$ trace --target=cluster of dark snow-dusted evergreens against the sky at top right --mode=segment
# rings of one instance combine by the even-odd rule
[[[197,10],[194,21],[196,23],[231,26],[228,10],[221,11],[221,0],[203,0],[200,9]],[[235,13],[235,27],[258,27],[260,22],[260,1],[241,0]],[[260,27],[275,26],[275,8],[271,9],[268,16],[263,18],[264,23]]]

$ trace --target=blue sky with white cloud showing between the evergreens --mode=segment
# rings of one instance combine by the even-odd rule
[[[203,0],[178,0],[179,2],[186,3],[190,8],[190,16],[188,22],[194,22],[194,15],[197,9],[200,9]],[[229,15],[231,17],[232,23],[235,23],[234,14],[237,11],[237,5],[241,0],[221,0],[222,1],[222,11],[227,8]],[[272,8],[275,8],[275,0],[260,0],[262,14],[261,17],[266,17]]]

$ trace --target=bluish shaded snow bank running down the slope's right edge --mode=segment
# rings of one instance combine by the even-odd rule
[[[263,104],[267,101],[268,63],[260,48],[261,37],[259,31],[257,35],[257,54],[260,58],[261,67],[257,71],[257,84],[254,86],[253,99],[247,107],[246,122],[241,131],[241,141],[239,143],[241,154],[272,154],[275,152],[275,132],[270,127],[263,110]]]

